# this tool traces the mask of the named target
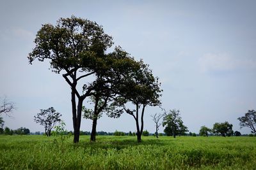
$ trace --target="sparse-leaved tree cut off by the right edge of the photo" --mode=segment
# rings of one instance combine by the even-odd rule
[[[252,133],[256,134],[256,111],[248,110],[244,117],[237,118],[240,121],[240,127],[249,127]]]

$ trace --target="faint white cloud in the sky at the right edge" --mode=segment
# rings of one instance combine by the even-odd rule
[[[232,71],[255,68],[256,60],[238,59],[228,53],[206,53],[198,60],[198,64],[202,71]]]

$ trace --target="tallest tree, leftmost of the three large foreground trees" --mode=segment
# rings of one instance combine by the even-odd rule
[[[74,143],[79,141],[83,101],[92,96],[94,88],[93,83],[88,83],[81,93],[77,83],[102,70],[105,52],[112,44],[111,36],[104,33],[102,26],[74,16],[60,18],[55,26],[44,24],[36,34],[29,63],[48,59],[54,73],[65,72],[63,78],[71,88]]]

